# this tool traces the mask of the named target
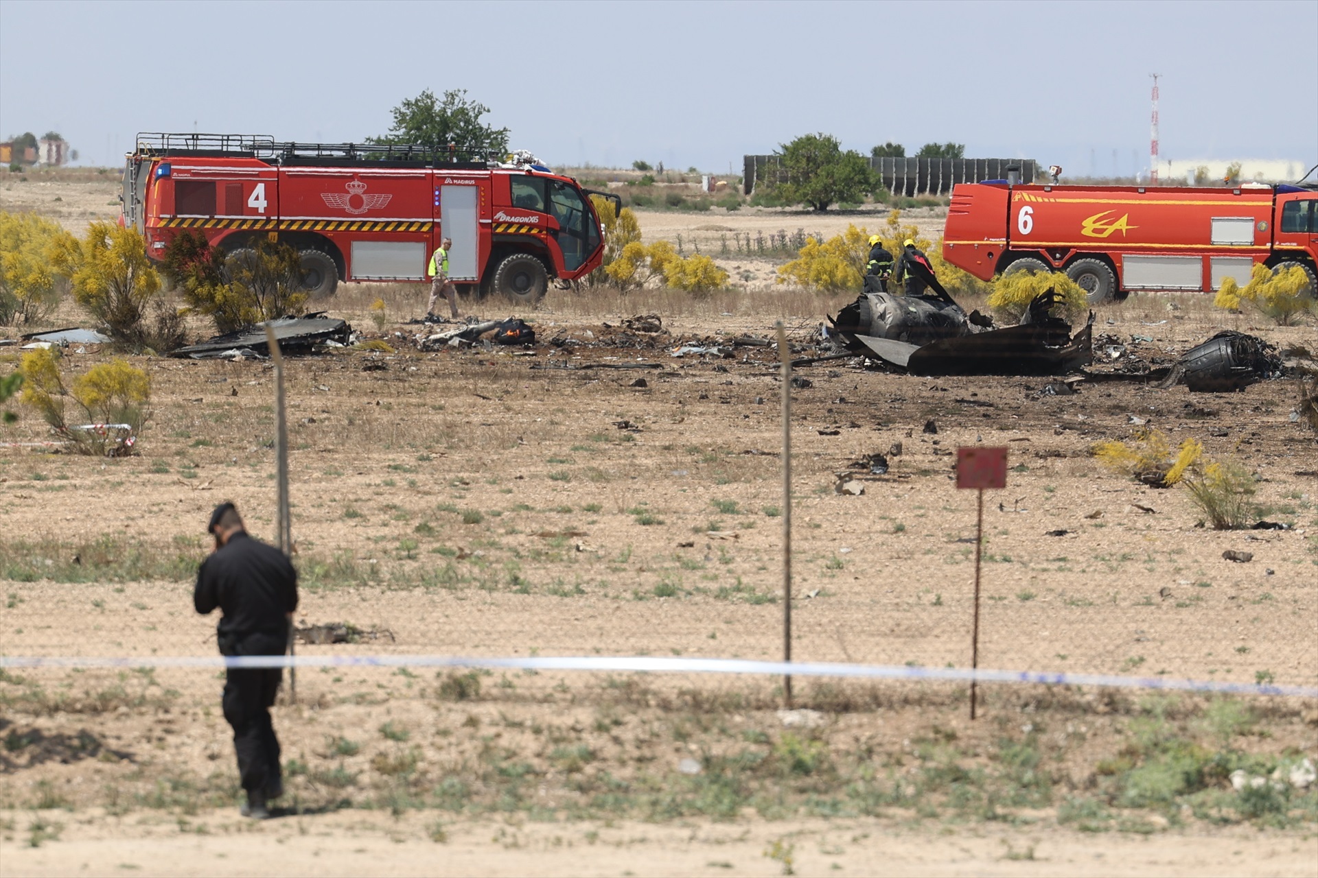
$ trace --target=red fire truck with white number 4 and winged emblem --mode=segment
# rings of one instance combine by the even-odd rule
[[[138,134],[121,222],[156,259],[185,229],[229,254],[262,236],[290,244],[319,296],[340,280],[427,282],[430,255],[449,237],[455,283],[531,304],[551,279],[602,261],[590,195],[527,153],[493,161],[452,147]]]

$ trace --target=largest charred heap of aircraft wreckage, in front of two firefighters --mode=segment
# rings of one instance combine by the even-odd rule
[[[1093,362],[1094,315],[1073,337],[1070,324],[1052,316],[1056,305],[1048,290],[1019,325],[999,329],[946,294],[865,292],[830,323],[853,353],[912,375],[1062,375]]]

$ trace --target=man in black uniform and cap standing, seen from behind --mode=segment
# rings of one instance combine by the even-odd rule
[[[298,608],[298,573],[282,552],[248,536],[232,503],[211,515],[215,552],[196,571],[196,612],[224,611],[219,624],[221,656],[282,656],[289,624]],[[231,667],[224,681],[224,719],[233,727],[239,777],[246,790],[243,816],[270,816],[266,802],[283,795],[279,741],[270,706],[279,690],[278,667]]]

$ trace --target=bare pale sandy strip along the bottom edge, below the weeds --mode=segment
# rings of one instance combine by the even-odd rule
[[[449,827],[436,844],[432,821],[416,812],[397,819],[339,812],[260,825],[204,813],[185,831],[163,816],[50,819],[66,821],[61,841],[7,848],[0,875],[789,874],[780,860],[766,856],[775,842],[792,848],[791,874],[800,875],[1318,874],[1311,839],[1253,831],[1095,837],[985,827],[944,833],[931,845],[925,833],[876,820],[746,827],[471,823]]]

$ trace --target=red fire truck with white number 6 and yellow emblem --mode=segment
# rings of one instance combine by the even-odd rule
[[[942,255],[983,280],[1065,271],[1094,304],[1131,290],[1213,291],[1226,278],[1243,287],[1257,263],[1302,266],[1318,290],[1318,191],[961,184]]]

